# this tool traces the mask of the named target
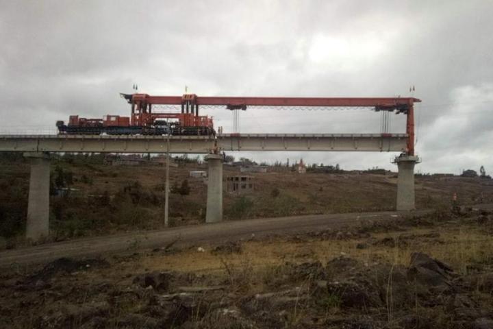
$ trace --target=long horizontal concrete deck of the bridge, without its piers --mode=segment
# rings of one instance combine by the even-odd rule
[[[168,136],[0,135],[0,151],[166,153]],[[169,136],[170,153],[219,151],[396,151],[407,134],[219,134]]]

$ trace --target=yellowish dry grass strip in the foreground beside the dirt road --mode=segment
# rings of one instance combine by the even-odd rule
[[[429,239],[427,234],[440,234],[436,239]],[[402,236],[416,236],[405,239],[405,245],[399,243]],[[164,256],[144,256],[140,267],[149,270],[173,270],[194,273],[224,273],[225,264],[230,268],[242,267],[247,263],[253,271],[262,271],[283,265],[286,262],[300,263],[307,260],[327,260],[346,255],[364,263],[387,262],[394,265],[408,265],[413,252],[425,252],[433,258],[443,260],[455,271],[465,273],[469,265],[485,263],[488,250],[493,249],[493,239],[478,228],[472,226],[444,226],[440,228],[411,228],[403,234],[401,230],[388,233],[372,234],[372,240],[381,241],[391,238],[396,247],[368,245],[359,249],[359,243],[368,243],[368,238],[347,240],[307,239],[303,243],[286,238],[267,241],[248,241],[242,243],[242,254],[216,256],[210,252],[212,245],[203,245],[205,252],[198,252],[197,247]],[[490,259],[491,261],[491,259]]]

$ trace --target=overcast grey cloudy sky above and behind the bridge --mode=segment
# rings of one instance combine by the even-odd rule
[[[0,0],[0,130],[128,114],[118,93],[409,96],[421,172],[493,173],[493,2]],[[207,110],[231,131],[232,114]],[[367,110],[251,109],[241,132],[380,132]],[[392,115],[392,132],[404,132]],[[390,153],[255,153],[383,167]],[[236,155],[238,156],[238,155]]]

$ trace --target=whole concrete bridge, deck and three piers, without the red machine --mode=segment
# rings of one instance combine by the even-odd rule
[[[23,152],[31,162],[26,237],[49,235],[50,154],[190,153],[207,154],[207,223],[223,219],[223,151],[396,151],[399,167],[397,210],[414,209],[414,164],[407,154],[408,134],[218,134],[146,135],[0,135],[0,151]],[[405,156],[402,156],[402,155]]]

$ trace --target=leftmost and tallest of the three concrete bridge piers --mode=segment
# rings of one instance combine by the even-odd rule
[[[38,241],[49,235],[50,161],[44,153],[25,153],[31,161],[27,200],[26,238]]]

